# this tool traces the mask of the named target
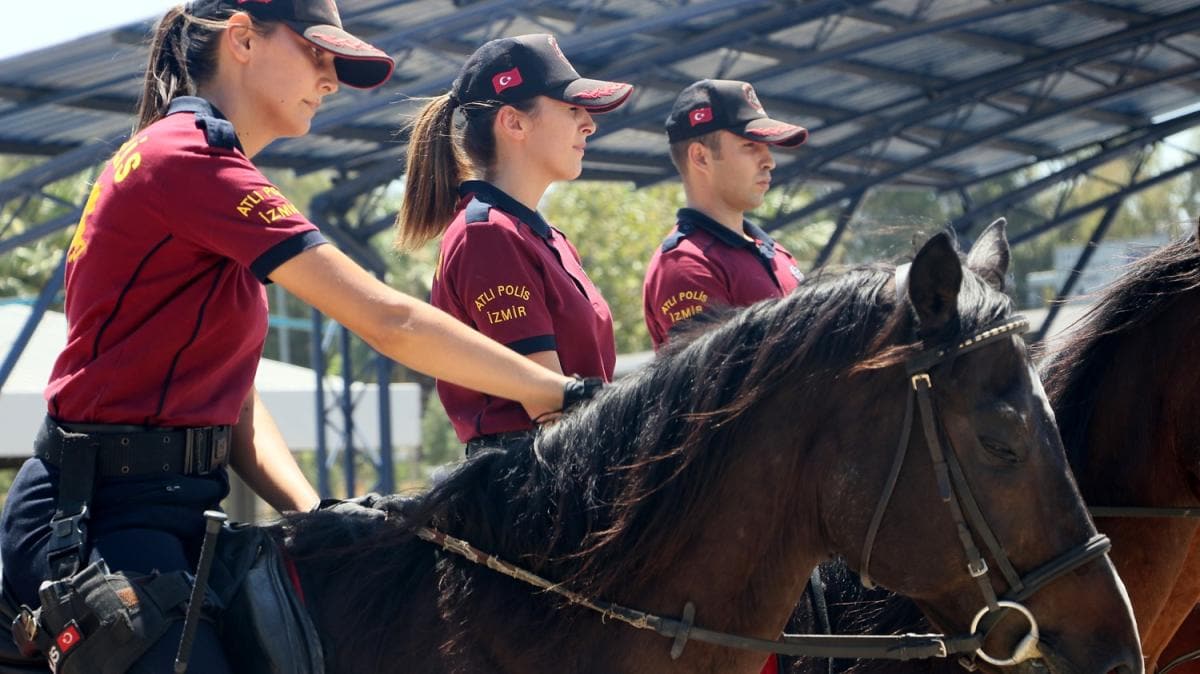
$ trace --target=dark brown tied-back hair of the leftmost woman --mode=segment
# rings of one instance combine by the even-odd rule
[[[197,88],[216,74],[217,42],[234,11],[221,8],[212,17],[199,18],[182,5],[167,10],[150,42],[134,133],[162,119],[175,97],[194,96]],[[275,28],[251,20],[264,34]]]

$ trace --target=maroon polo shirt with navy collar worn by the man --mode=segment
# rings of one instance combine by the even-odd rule
[[[695,209],[679,209],[676,227],[654,252],[642,287],[642,311],[654,348],[672,326],[710,307],[742,307],[791,293],[804,275],[791,253],[750,223],[738,236]]]

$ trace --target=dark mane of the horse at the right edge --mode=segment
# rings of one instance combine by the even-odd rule
[[[1195,236],[1158,248],[1129,264],[1100,293],[1066,343],[1042,366],[1042,381],[1073,465],[1085,458],[1087,428],[1104,393],[1099,380],[1116,356],[1121,337],[1147,325],[1181,294],[1196,288],[1200,248]]]

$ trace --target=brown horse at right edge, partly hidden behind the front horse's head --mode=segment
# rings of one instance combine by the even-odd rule
[[[1086,503],[1200,506],[1200,415],[1195,411],[1200,351],[1193,348],[1198,329],[1200,247],[1193,236],[1130,265],[1100,294],[1080,325],[1052,348],[1043,378]],[[1200,648],[1200,615],[1194,614],[1200,601],[1198,520],[1103,517],[1097,525],[1112,540],[1112,561],[1129,591],[1147,672]],[[890,600],[877,594],[866,596],[845,572],[822,571],[834,624],[863,633],[922,631],[910,620],[914,610],[890,606]],[[862,610],[848,606],[859,602]],[[791,628],[815,625],[810,612],[804,607],[805,619]],[[811,667],[797,664],[797,670]],[[1195,664],[1189,667],[1172,673],[1200,672]],[[826,669],[823,664],[817,668]],[[860,668],[874,667],[863,663]],[[946,663],[886,670],[961,672]]]

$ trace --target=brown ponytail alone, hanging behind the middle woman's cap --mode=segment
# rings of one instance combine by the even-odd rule
[[[458,183],[470,167],[455,139],[450,95],[428,102],[408,138],[404,201],[396,218],[396,246],[412,251],[437,239],[454,218]]]

